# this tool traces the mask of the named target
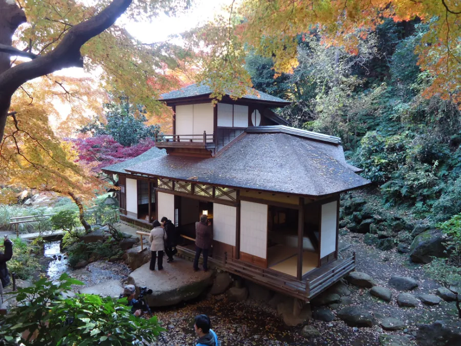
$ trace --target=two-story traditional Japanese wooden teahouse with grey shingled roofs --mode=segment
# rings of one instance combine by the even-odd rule
[[[162,95],[173,133],[112,165],[121,218],[151,228],[171,219],[193,256],[195,222],[213,219],[212,262],[308,301],[355,267],[338,256],[340,194],[369,184],[347,164],[338,137],[287,127],[288,101],[249,92],[213,106],[205,85]]]

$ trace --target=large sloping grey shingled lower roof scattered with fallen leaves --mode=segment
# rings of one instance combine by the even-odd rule
[[[286,133],[246,133],[210,158],[165,155],[126,168],[204,184],[322,196],[362,187],[339,145]]]

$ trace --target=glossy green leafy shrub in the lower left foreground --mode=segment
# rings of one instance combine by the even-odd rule
[[[83,282],[62,274],[57,284],[43,278],[19,289],[17,305],[0,325],[1,342],[7,346],[131,346],[133,341],[148,345],[163,330],[156,316],[134,316],[127,298],[62,295],[72,284]]]

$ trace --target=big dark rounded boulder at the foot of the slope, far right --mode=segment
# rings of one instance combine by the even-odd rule
[[[441,230],[428,230],[413,239],[410,246],[410,258],[416,263],[429,263],[432,257],[445,257],[446,236]]]

